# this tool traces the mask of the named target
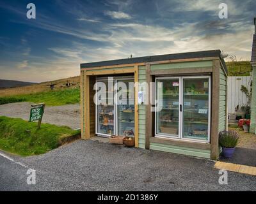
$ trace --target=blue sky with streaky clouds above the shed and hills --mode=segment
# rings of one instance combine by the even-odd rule
[[[36,19],[26,5],[36,5]],[[218,17],[220,3],[228,19]],[[255,0],[0,1],[0,78],[79,75],[81,62],[220,49],[250,60]]]

